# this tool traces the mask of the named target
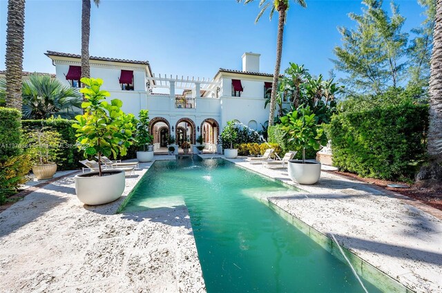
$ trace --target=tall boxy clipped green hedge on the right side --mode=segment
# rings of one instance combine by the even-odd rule
[[[340,113],[327,128],[334,165],[364,177],[412,179],[425,159],[427,128],[422,104]]]

